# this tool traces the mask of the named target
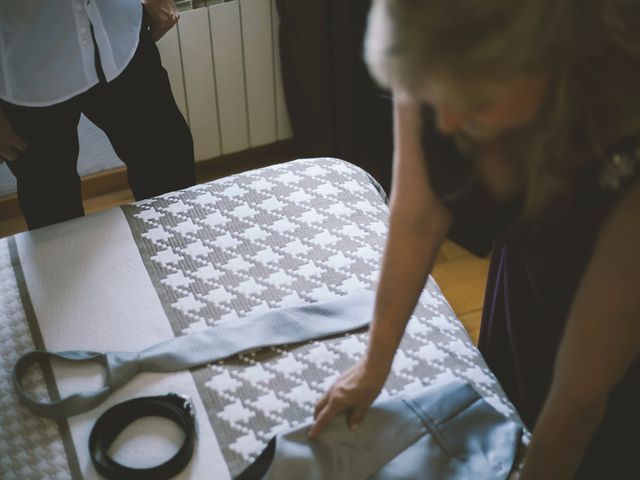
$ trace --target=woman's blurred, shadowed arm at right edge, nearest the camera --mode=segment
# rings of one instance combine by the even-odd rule
[[[574,477],[611,389],[640,354],[639,286],[637,184],[603,226],[574,298],[522,480]]]

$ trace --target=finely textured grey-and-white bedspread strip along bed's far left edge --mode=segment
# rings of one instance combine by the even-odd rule
[[[70,479],[58,426],[23,407],[11,383],[15,362],[34,348],[7,240],[0,239],[0,478]],[[33,370],[26,387],[36,396],[46,396],[44,378]]]

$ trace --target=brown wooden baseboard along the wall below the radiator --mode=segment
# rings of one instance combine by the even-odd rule
[[[196,163],[198,183],[209,182],[234,173],[275,165],[293,160],[293,140],[282,140],[262,147],[250,148],[238,153],[223,155]],[[129,188],[127,168],[121,167],[94,173],[82,178],[82,199],[99,197]],[[0,198],[0,221],[21,217],[16,194]]]

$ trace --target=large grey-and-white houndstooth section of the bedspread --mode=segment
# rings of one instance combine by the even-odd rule
[[[388,210],[363,170],[307,159],[123,207],[174,333],[374,289]],[[247,332],[250,335],[251,332]],[[310,419],[366,332],[263,349],[192,371],[232,475],[277,432]],[[460,377],[517,418],[429,280],[383,396]]]

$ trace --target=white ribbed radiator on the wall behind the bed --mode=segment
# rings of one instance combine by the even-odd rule
[[[158,42],[196,160],[291,138],[278,22],[275,0],[234,0],[181,11]]]

